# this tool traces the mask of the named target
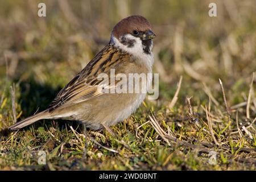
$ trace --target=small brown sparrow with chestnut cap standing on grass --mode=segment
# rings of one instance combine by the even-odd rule
[[[104,73],[109,76],[109,81],[113,77],[112,69],[115,75],[122,73],[127,77],[130,73],[150,73],[146,79],[147,91],[152,81],[154,38],[151,25],[143,16],[122,19],[113,28],[109,44],[60,90],[48,109],[17,122],[9,129],[20,129],[40,119],[68,119],[98,130],[128,118],[141,105],[146,93],[106,93],[104,86],[113,86],[98,76]],[[119,81],[115,80],[115,83]]]

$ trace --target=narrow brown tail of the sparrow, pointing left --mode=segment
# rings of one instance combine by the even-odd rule
[[[49,111],[48,110],[44,110],[38,114],[35,115],[31,115],[30,117],[23,119],[22,121],[14,124],[13,126],[10,126],[9,129],[10,130],[18,130],[21,129],[22,127],[25,127],[27,125],[31,125],[32,123],[40,120],[40,119],[46,119],[47,117],[49,117]]]

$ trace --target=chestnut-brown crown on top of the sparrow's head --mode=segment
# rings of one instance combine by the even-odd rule
[[[113,28],[113,35],[115,38],[119,38],[124,34],[128,34],[137,31],[151,30],[151,24],[146,18],[141,15],[128,16],[118,22]]]

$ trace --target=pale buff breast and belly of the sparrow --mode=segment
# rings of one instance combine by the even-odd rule
[[[77,120],[85,123],[90,129],[98,130],[101,129],[101,123],[112,126],[133,114],[145,99],[152,81],[152,68],[143,67],[143,64],[141,62],[138,64],[138,61],[140,60],[133,60],[129,71],[123,71],[128,79],[127,88],[129,84],[133,84],[134,90],[132,93],[129,93],[129,89],[127,89],[127,93],[107,93],[87,101],[81,105],[81,113],[83,114],[77,115]],[[134,80],[131,83],[129,73],[144,75],[146,79],[144,81],[139,79],[138,82]],[[143,85],[145,90],[142,90]],[[138,86],[141,89],[139,89],[139,93],[136,93],[135,88],[138,88]]]

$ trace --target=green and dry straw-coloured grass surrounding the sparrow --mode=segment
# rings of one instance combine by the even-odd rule
[[[216,1],[214,18],[207,1],[46,1],[46,18],[38,3],[0,7],[1,170],[255,170],[254,1]],[[46,109],[129,14],[157,35],[158,100],[112,126],[115,136],[63,120],[4,130]]]

